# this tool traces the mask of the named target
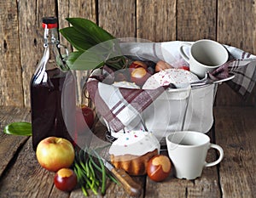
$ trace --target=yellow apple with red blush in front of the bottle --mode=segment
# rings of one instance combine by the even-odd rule
[[[67,139],[49,137],[39,142],[36,156],[42,167],[56,172],[62,167],[70,167],[75,153],[73,144]]]

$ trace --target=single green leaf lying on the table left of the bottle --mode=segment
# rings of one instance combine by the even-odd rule
[[[13,122],[5,126],[3,133],[11,135],[32,135],[32,124],[29,122]]]

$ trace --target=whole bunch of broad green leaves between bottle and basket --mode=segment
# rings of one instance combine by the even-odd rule
[[[82,18],[67,18],[72,25],[60,30],[61,35],[77,51],[67,58],[71,70],[87,71],[108,65],[120,70],[127,59],[119,48],[118,40],[94,22]]]

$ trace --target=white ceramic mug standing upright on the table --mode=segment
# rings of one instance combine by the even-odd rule
[[[170,133],[166,136],[168,155],[174,166],[177,178],[195,179],[201,177],[204,167],[212,167],[222,161],[223,149],[217,144],[211,144],[210,138],[193,131]],[[210,148],[218,150],[217,161],[206,161],[207,151]]]

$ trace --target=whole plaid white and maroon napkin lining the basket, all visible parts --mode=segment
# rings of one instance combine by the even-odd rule
[[[150,59],[154,62],[162,59],[174,67],[187,65],[178,52],[181,42],[123,42],[120,44],[123,54],[136,56],[137,59]],[[230,61],[212,72],[213,78],[222,79],[235,74],[229,83],[236,93],[246,97],[251,93],[256,81],[256,56],[241,49],[225,46],[230,53]],[[145,110],[154,99],[160,96],[166,87],[154,90],[117,88],[111,85],[113,71],[108,67],[93,71],[87,90],[96,105],[96,110],[108,122],[115,132],[129,123]],[[140,118],[140,117],[138,117]]]

